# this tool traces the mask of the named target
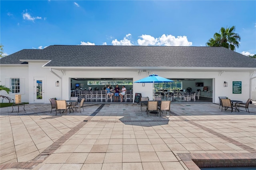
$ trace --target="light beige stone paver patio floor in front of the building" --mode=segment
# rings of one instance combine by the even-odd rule
[[[171,116],[162,117],[147,117],[145,108],[127,103],[88,105],[67,116],[50,109],[1,108],[1,170],[198,170],[194,162],[256,160],[256,103],[250,113],[221,112],[213,103],[173,103]]]

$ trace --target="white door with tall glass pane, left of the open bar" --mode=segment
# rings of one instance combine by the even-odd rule
[[[44,77],[34,77],[34,103],[44,102]]]

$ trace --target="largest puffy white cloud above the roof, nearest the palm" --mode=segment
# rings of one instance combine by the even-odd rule
[[[177,36],[163,34],[159,38],[154,38],[150,35],[142,35],[137,40],[139,45],[162,45],[162,46],[191,46],[192,42],[188,42],[186,36]]]

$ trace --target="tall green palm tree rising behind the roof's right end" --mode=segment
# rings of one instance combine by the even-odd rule
[[[241,40],[240,35],[234,32],[235,30],[235,26],[220,28],[220,33],[215,33],[213,38],[210,38],[206,45],[210,47],[225,47],[235,51],[236,47],[239,47]]]

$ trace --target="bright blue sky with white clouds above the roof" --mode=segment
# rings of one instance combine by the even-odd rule
[[[256,1],[1,0],[7,55],[49,45],[206,46],[236,26],[236,52],[256,54]]]

